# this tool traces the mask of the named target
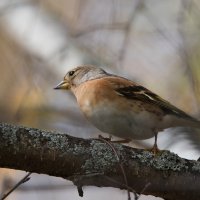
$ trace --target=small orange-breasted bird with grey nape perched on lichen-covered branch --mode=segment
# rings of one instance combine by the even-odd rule
[[[142,85],[93,65],[67,72],[54,89],[70,90],[84,116],[100,131],[125,141],[154,137],[172,127],[200,128],[200,121]]]

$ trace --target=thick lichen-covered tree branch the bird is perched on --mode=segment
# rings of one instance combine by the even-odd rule
[[[168,151],[154,157],[145,150],[113,146],[123,163],[128,187],[137,193],[200,199],[200,162]],[[3,123],[0,167],[63,177],[73,181],[79,191],[87,185],[127,188],[115,153],[103,141]]]

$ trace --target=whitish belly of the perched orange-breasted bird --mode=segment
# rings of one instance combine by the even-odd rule
[[[99,130],[120,138],[142,140],[155,135],[155,122],[145,111],[135,114],[131,111],[118,110],[112,105],[93,109],[89,115],[84,109],[82,111]]]

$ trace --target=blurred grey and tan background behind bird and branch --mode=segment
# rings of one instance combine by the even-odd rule
[[[72,94],[53,90],[81,64],[137,81],[200,118],[200,2],[0,0],[1,122],[97,137],[100,131],[84,119]],[[148,144],[153,139],[142,145]],[[198,159],[200,131],[169,129],[159,134],[158,145]],[[24,175],[0,169],[0,194]],[[127,199],[126,191],[95,187],[85,187],[81,198],[71,182],[33,174],[8,199],[107,200],[111,195]]]

